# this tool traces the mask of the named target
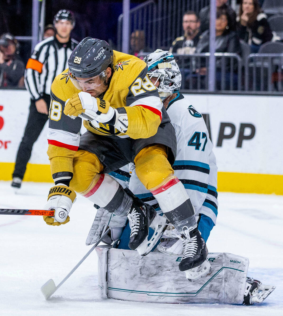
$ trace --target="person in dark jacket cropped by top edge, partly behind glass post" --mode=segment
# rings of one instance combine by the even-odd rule
[[[230,22],[230,30],[236,31],[236,13],[235,11],[227,4],[228,0],[216,0],[216,8],[217,9],[226,9],[229,15]],[[199,18],[201,22],[200,31],[203,33],[204,31],[209,29],[209,5],[200,10]]]

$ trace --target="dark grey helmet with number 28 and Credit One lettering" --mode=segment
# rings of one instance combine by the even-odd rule
[[[100,80],[105,82],[107,79],[106,68],[113,69],[113,50],[105,40],[86,37],[72,52],[68,65],[70,79],[78,89],[81,86],[78,84],[83,82],[83,78],[97,82],[99,76]],[[81,79],[76,80],[77,78]],[[94,78],[96,79],[94,80]]]

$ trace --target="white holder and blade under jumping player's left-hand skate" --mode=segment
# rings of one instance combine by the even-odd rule
[[[145,240],[136,248],[139,255],[146,256],[152,250],[158,240],[162,237],[167,223],[168,221],[165,216],[155,216],[150,224],[150,227],[154,229],[154,234],[150,240],[145,238]]]

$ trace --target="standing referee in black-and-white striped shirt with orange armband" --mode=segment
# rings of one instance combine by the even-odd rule
[[[77,41],[70,38],[75,26],[73,12],[60,10],[53,21],[55,36],[48,37],[35,46],[25,71],[25,86],[30,93],[29,118],[20,143],[11,186],[19,189],[29,161],[33,144],[48,120],[50,89],[55,76],[68,68]]]

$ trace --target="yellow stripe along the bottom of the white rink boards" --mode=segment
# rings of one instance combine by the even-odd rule
[[[0,162],[0,180],[12,180],[14,167],[14,163]],[[217,178],[217,191],[283,195],[283,175],[218,172]],[[53,182],[50,166],[28,163],[23,180]]]

